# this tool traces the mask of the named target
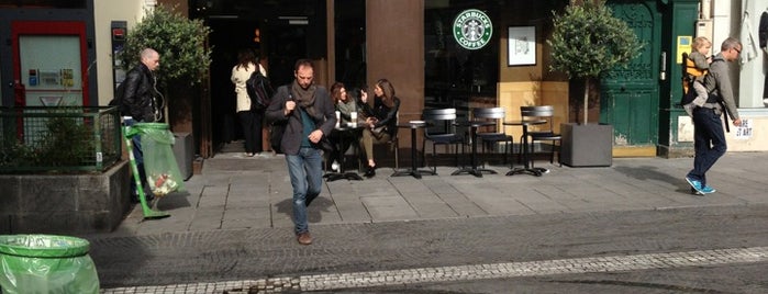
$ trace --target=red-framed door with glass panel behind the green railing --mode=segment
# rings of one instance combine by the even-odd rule
[[[16,106],[88,105],[84,22],[11,23]]]

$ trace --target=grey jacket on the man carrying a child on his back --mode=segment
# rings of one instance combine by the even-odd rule
[[[710,74],[706,75],[706,88],[713,87],[714,90],[710,93],[708,103],[717,102],[714,98],[720,98],[725,105],[725,111],[728,112],[731,120],[738,118],[738,110],[736,109],[736,98],[733,93],[733,84],[728,74],[728,63],[723,59],[723,54],[719,53],[710,64]]]

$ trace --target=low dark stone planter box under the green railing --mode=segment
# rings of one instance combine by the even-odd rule
[[[99,173],[0,174],[0,234],[108,233],[129,212],[129,162]]]

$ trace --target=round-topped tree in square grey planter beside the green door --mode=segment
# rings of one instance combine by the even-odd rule
[[[583,121],[560,126],[560,159],[570,167],[611,166],[613,127],[589,124],[590,81],[617,66],[626,66],[639,54],[642,44],[625,22],[613,16],[605,0],[571,0],[563,14],[553,14],[554,31],[547,39],[552,46],[549,69],[585,82]]]

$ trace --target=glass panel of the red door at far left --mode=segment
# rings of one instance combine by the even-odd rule
[[[27,106],[81,106],[79,36],[19,36]]]

